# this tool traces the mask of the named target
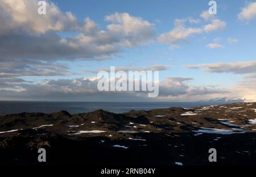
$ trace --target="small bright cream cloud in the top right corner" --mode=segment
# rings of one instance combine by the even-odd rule
[[[256,17],[256,2],[249,3],[246,7],[242,8],[238,19],[240,20],[253,20]]]

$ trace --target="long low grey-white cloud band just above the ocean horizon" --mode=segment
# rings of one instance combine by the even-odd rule
[[[36,84],[30,83],[7,83],[0,79],[0,96],[1,98],[22,99],[22,100],[119,100],[128,98],[133,100],[147,99],[147,92],[142,91],[98,91],[97,83],[100,78],[76,78],[76,79],[57,79],[46,80]],[[187,81],[192,78],[166,78],[159,82],[159,97],[155,99],[173,99],[179,96],[195,96],[224,94],[225,90],[210,87],[189,86]],[[15,82],[15,81],[14,81]],[[137,81],[139,82],[139,81]],[[11,84],[15,84],[16,90],[7,89]]]

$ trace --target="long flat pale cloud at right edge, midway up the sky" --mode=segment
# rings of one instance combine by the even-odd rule
[[[204,68],[204,71],[209,73],[249,74],[249,73],[256,72],[256,61],[220,63],[220,64],[185,65],[184,67],[188,69]]]

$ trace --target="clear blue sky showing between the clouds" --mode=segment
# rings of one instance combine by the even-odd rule
[[[114,14],[115,12],[127,12],[133,16],[139,16],[148,22],[155,23],[155,29],[158,34],[170,31],[174,28],[174,20],[177,18],[192,17],[200,19],[202,11],[209,8],[209,1],[53,1],[63,11],[71,11],[82,22],[85,16],[95,20],[101,28],[104,29],[108,22],[105,22],[104,16]],[[189,77],[193,75],[195,85],[234,85],[237,78],[233,74],[212,74],[201,71],[193,71],[183,68],[183,65],[194,65],[202,63],[218,62],[239,62],[256,60],[256,51],[254,50],[255,26],[247,26],[237,19],[241,7],[246,5],[246,1],[217,1],[217,16],[224,20],[228,26],[224,31],[217,31],[203,35],[195,35],[187,44],[182,44],[180,49],[170,50],[168,45],[148,44],[146,46],[128,49],[120,53],[121,57],[115,57],[112,61],[94,62],[101,68],[112,66],[127,65],[170,65],[172,68],[163,71],[160,74],[164,77]],[[202,22],[203,23],[203,22]],[[254,23],[255,24],[255,23]],[[198,26],[198,25],[197,25]],[[70,33],[61,33],[66,37]],[[204,39],[205,37],[205,39]],[[229,45],[226,41],[228,37],[239,39],[240,43]],[[225,49],[212,50],[206,49],[205,45],[213,43],[214,39],[220,38],[221,44]],[[122,60],[122,62],[119,62]],[[81,62],[81,67],[72,66],[73,71],[84,70],[87,65],[90,68],[92,62]],[[72,62],[70,65],[74,65]],[[208,78],[211,78],[210,80]]]

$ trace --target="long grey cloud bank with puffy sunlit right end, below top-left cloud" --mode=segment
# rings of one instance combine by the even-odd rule
[[[40,60],[106,59],[120,52],[123,47],[142,45],[154,36],[152,24],[129,14],[115,15],[125,16],[124,18],[128,20],[123,20],[121,24],[110,24],[106,31],[103,31],[96,30],[96,23],[86,18],[79,35],[64,39],[54,32],[40,35],[26,35],[26,33],[5,35],[0,41],[1,56],[40,58]],[[133,26],[135,24],[136,26]],[[23,45],[24,43],[26,45]]]

